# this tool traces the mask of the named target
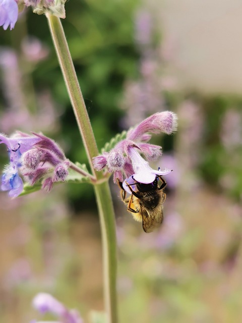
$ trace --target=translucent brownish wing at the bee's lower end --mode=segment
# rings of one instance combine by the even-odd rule
[[[146,233],[152,232],[155,228],[158,228],[163,220],[163,210],[162,206],[157,209],[147,212],[146,210],[142,210],[142,219],[143,219],[143,229]]]

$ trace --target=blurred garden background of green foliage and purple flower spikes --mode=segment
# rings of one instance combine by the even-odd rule
[[[155,112],[166,176],[164,222],[145,234],[110,181],[120,322],[242,320],[242,4],[240,0],[72,0],[63,20],[101,148]],[[42,131],[85,163],[47,21],[26,10],[0,30],[0,131]],[[0,145],[2,169],[6,147]],[[92,187],[0,194],[0,322],[29,322],[48,292],[88,322],[102,310],[100,230]],[[46,316],[46,319],[53,319]],[[42,318],[41,318],[42,319]]]

